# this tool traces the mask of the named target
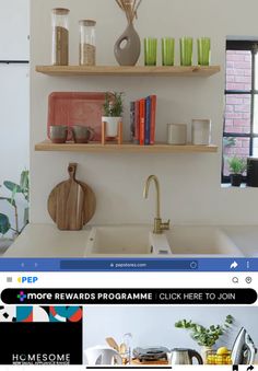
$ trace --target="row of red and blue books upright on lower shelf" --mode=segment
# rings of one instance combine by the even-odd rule
[[[155,142],[156,95],[130,103],[131,141],[150,146]]]

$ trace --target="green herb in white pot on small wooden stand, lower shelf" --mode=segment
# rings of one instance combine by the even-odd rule
[[[105,103],[103,105],[104,116],[102,120],[106,123],[106,137],[115,138],[118,134],[118,124],[121,123],[124,112],[124,93],[108,92],[106,93]]]

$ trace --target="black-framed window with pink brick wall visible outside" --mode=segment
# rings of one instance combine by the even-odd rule
[[[258,40],[226,42],[222,183],[230,182],[228,158],[258,156],[257,51]]]

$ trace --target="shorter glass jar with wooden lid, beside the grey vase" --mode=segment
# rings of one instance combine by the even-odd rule
[[[96,65],[96,22],[93,20],[82,20],[80,25],[80,56],[81,66]]]

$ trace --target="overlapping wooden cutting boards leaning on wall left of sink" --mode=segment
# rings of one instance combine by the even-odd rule
[[[75,179],[77,163],[70,163],[70,178],[59,183],[48,197],[48,212],[59,230],[79,231],[94,216],[96,198],[89,185]]]

